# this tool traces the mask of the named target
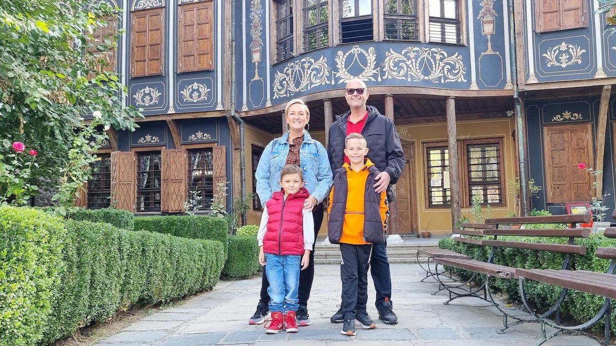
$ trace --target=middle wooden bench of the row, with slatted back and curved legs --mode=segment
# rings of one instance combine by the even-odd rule
[[[562,294],[557,304],[550,308],[548,312],[540,316],[532,316],[532,318],[523,318],[521,316],[513,316],[505,312],[499,304],[493,299],[490,290],[488,289],[490,278],[502,278],[502,279],[517,279],[519,276],[516,273],[517,268],[509,267],[507,265],[496,264],[495,258],[498,251],[503,251],[507,248],[513,249],[526,249],[529,251],[547,251],[564,254],[561,270],[569,269],[571,257],[573,254],[586,254],[586,247],[575,245],[573,242],[575,238],[586,238],[590,235],[590,229],[588,228],[566,228],[556,230],[541,230],[541,229],[499,229],[499,225],[511,224],[511,223],[572,223],[573,227],[577,223],[590,222],[590,214],[577,214],[577,215],[548,215],[548,216],[530,216],[530,217],[509,217],[501,219],[487,219],[485,225],[491,225],[493,229],[483,229],[480,232],[484,236],[492,236],[492,239],[467,239],[456,237],[455,241],[461,243],[470,243],[480,246],[483,249],[485,246],[490,246],[492,249],[488,256],[487,262],[479,260],[479,256],[476,259],[469,259],[463,257],[457,258],[443,258],[433,257],[432,260],[435,263],[434,272],[439,284],[444,289],[447,289],[449,293],[449,299],[444,304],[449,304],[454,299],[460,297],[479,297],[481,299],[488,300],[503,314],[503,328],[498,329],[498,333],[504,332],[506,329],[515,326],[520,323],[539,323],[541,318],[552,315],[559,309],[559,306],[565,299],[565,294]],[[549,237],[549,238],[567,238],[567,244],[551,244],[551,243],[532,243],[521,241],[506,241],[498,239],[498,236],[532,236],[532,237]],[[458,285],[448,284],[447,282],[440,280],[438,265],[444,265],[447,267],[460,268],[469,270],[474,275],[481,274],[485,276],[485,280],[477,288],[466,289],[459,287]],[[524,292],[521,292],[524,294]],[[516,320],[514,323],[509,323],[508,318]]]

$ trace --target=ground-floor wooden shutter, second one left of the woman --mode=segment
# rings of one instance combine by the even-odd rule
[[[184,150],[162,150],[161,163],[161,211],[182,212],[186,201]]]

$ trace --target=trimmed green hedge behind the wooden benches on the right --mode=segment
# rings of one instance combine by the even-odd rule
[[[534,243],[560,243],[566,244],[567,238],[537,238],[537,237],[522,237],[522,236],[504,236],[499,237],[501,240],[510,241],[529,241]],[[573,255],[572,268],[575,270],[589,270],[592,272],[605,273],[610,264],[609,260],[599,259],[594,256],[597,247],[616,247],[616,239],[609,239],[603,235],[592,234],[589,238],[576,239],[577,245],[586,246],[586,255]],[[456,252],[463,252],[464,244],[454,241],[453,238],[444,238],[439,241],[439,247],[449,249]],[[479,247],[471,246],[471,256],[477,253]],[[504,250],[504,251],[503,251]],[[503,249],[496,251],[494,262],[496,264],[508,265],[516,268],[538,268],[538,269],[560,269],[563,254],[554,252],[538,252],[524,249]],[[484,249],[480,260],[486,262],[490,254],[490,247]],[[453,268],[453,271],[463,278],[470,278],[472,272]],[[538,283],[537,281],[528,280],[525,283],[525,292],[530,304],[537,307],[538,310],[546,311],[553,306],[559,299],[562,288],[550,284]],[[490,288],[504,292],[512,302],[521,304],[520,294],[518,290],[517,280],[505,280],[500,278],[490,278]],[[590,320],[601,309],[604,303],[603,297],[593,296],[579,291],[569,291],[567,298],[561,305],[561,313],[570,316],[574,320],[586,322]],[[612,302],[612,315],[616,315],[616,304]],[[596,330],[602,329],[602,324],[594,326]],[[616,332],[616,318],[612,318],[612,331]]]

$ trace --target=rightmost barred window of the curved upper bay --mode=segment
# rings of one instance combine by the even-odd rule
[[[430,11],[430,42],[462,42],[458,0],[426,0]]]

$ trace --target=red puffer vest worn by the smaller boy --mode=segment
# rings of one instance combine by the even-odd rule
[[[277,255],[304,254],[304,200],[309,193],[305,187],[286,197],[285,191],[274,192],[265,203],[267,231],[263,236],[263,252]]]

